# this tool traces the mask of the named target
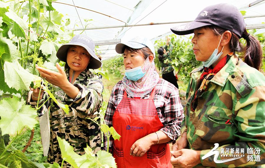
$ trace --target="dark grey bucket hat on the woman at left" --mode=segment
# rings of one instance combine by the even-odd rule
[[[90,54],[90,63],[88,64],[87,68],[89,69],[97,69],[102,66],[102,62],[100,59],[96,56],[94,49],[95,49],[95,43],[94,41],[86,36],[86,35],[75,35],[70,43],[63,44],[57,51],[56,56],[59,58],[59,60],[66,62],[67,57],[67,51],[68,48],[71,45],[79,45],[84,47],[87,52]]]

